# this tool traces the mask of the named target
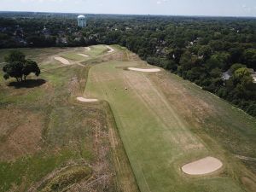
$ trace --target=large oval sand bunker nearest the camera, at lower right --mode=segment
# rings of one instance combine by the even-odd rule
[[[214,157],[196,160],[182,167],[183,172],[189,175],[205,175],[215,172],[223,166],[222,162]]]

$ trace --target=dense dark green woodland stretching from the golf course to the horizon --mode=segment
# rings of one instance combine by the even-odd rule
[[[256,116],[255,19],[150,15],[87,19],[88,26],[82,29],[76,15],[0,16],[0,26],[12,31],[0,32],[0,47],[20,46],[15,44],[17,28],[26,47],[120,44]]]

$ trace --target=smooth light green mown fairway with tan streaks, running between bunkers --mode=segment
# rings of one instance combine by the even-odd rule
[[[193,180],[183,174],[184,162],[215,154],[189,131],[148,73],[123,70],[138,65],[109,61],[92,67],[84,95],[109,102],[140,190],[242,191],[231,177]]]

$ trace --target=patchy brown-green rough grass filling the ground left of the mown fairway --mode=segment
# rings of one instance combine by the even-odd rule
[[[9,50],[0,50],[1,61]],[[45,82],[10,86],[14,79],[4,81],[0,72],[0,191],[137,191],[108,106],[75,99],[84,91],[88,59],[84,66],[54,60],[84,48],[20,50],[38,61]],[[90,54],[105,50],[95,46]],[[118,158],[122,170],[113,164]]]

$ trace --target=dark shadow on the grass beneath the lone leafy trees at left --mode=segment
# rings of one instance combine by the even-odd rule
[[[45,83],[46,81],[44,79],[27,79],[26,81],[22,81],[22,82],[10,82],[8,86],[15,87],[15,89],[34,88],[34,87],[39,87]]]

